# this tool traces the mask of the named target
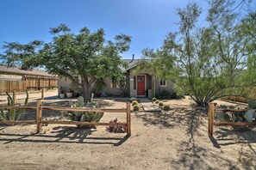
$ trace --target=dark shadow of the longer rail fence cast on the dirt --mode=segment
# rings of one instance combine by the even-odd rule
[[[0,141],[7,143],[82,143],[82,144],[110,144],[120,146],[128,140],[128,135],[122,137],[90,137],[96,129],[82,129],[72,126],[57,126],[47,134],[6,134],[1,133]]]

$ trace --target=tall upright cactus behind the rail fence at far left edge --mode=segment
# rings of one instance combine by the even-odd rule
[[[8,100],[8,106],[15,106],[14,100],[13,98],[9,95],[8,92],[6,92],[7,94],[7,100]],[[24,106],[28,105],[28,90],[26,90],[26,99],[24,102]],[[24,112],[24,110],[19,110],[18,112],[16,112],[15,109],[8,109],[8,110],[1,110],[0,112],[0,120],[12,120],[12,121],[17,121],[19,119],[21,119],[22,117],[22,113]]]

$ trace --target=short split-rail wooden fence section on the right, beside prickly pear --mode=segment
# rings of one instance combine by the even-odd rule
[[[209,103],[209,114],[208,114],[208,135],[209,137],[213,136],[214,131],[214,125],[216,126],[253,126],[256,125],[256,122],[250,123],[250,122],[215,122],[215,113],[216,111],[222,111],[222,112],[233,112],[234,114],[239,112],[245,112],[246,109],[222,109],[222,108],[215,108],[214,103]]]

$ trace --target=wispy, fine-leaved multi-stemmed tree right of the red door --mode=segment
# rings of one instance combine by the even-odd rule
[[[169,33],[159,49],[145,49],[143,56],[150,62],[140,64],[172,81],[197,106],[243,95],[245,87],[256,84],[255,12],[243,18],[233,13],[234,1],[209,3],[204,27],[197,23],[201,9],[196,3],[178,9],[178,32]]]

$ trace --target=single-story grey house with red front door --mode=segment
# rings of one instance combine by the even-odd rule
[[[124,75],[128,77],[128,96],[129,97],[148,97],[160,96],[161,93],[172,94],[173,83],[170,81],[157,79],[147,70],[136,70],[140,59],[124,59],[128,63],[128,68],[122,68]],[[115,77],[105,78],[106,85],[101,89],[101,94],[108,96],[122,96],[122,88],[118,86]],[[69,89],[71,81],[66,78],[58,79],[58,86]]]

